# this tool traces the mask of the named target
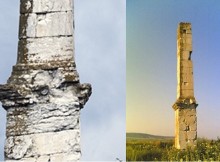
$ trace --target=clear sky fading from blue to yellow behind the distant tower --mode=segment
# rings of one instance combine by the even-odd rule
[[[220,137],[220,1],[126,1],[126,132],[174,136],[176,31],[192,24],[198,136]]]

